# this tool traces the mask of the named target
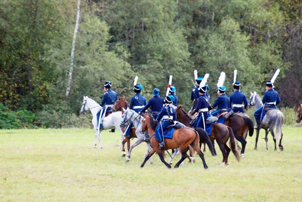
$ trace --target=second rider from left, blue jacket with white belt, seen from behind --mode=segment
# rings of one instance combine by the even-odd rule
[[[130,109],[135,111],[136,113],[139,113],[140,110],[146,105],[146,99],[143,95],[140,94],[142,90],[142,85],[137,84],[133,88],[135,95],[130,100]],[[128,129],[125,132],[125,135],[130,137],[131,136],[131,126],[133,124],[129,125],[127,127]]]

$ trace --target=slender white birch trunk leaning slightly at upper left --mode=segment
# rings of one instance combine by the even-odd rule
[[[72,79],[75,39],[77,38],[77,33],[78,33],[79,25],[80,25],[80,3],[81,3],[81,0],[78,0],[77,22],[75,22],[73,40],[72,40],[72,48],[71,48],[71,55],[70,55],[70,69],[69,69],[69,77],[68,77],[67,88],[66,88],[66,100],[68,99],[68,95],[69,95],[69,91],[70,91],[70,84],[71,84],[71,79]]]

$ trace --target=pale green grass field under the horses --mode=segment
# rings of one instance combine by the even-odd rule
[[[169,170],[157,155],[139,167],[146,144],[126,163],[118,132],[102,132],[94,149],[92,129],[0,130],[0,201],[302,201],[301,131],[283,127],[283,152],[271,136],[268,151],[262,139],[255,151],[254,134],[239,163],[230,154],[220,166],[216,146],[218,156],[205,152],[208,170],[197,157]]]

